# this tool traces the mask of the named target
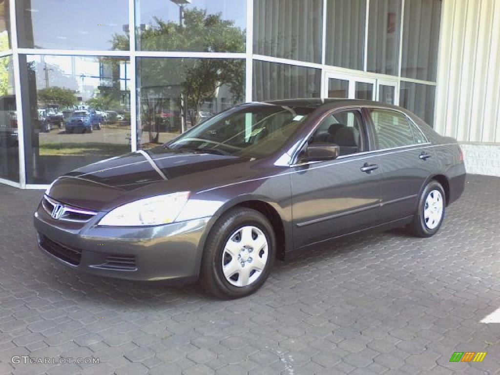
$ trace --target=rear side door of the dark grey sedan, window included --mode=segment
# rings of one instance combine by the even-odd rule
[[[412,215],[420,189],[435,168],[430,143],[404,113],[366,108],[381,171],[380,221]]]

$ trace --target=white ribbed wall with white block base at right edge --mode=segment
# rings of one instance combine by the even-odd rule
[[[434,127],[464,144],[469,173],[500,176],[485,163],[500,157],[499,107],[500,0],[443,0]]]

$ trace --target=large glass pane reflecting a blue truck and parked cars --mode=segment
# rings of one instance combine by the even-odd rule
[[[27,183],[130,151],[128,59],[24,55]]]

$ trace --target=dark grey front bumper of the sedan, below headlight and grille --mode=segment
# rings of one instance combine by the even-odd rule
[[[209,217],[154,227],[100,227],[34,215],[42,252],[70,268],[132,280],[194,281]]]

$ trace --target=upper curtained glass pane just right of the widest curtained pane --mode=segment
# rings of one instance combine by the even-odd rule
[[[366,0],[328,0],[326,63],[363,70]]]

